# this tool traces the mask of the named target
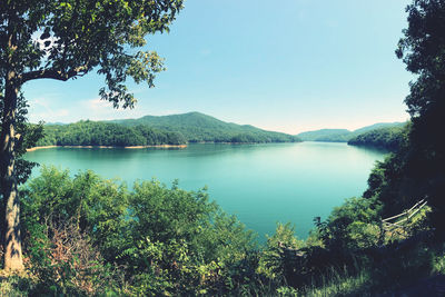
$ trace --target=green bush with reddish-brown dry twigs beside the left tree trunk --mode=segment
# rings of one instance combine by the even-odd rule
[[[116,224],[123,220],[123,188],[92,172],[71,179],[68,171],[42,168],[22,197],[26,254],[40,280],[36,290],[56,295],[101,291],[100,283],[109,273],[93,245],[113,236]]]

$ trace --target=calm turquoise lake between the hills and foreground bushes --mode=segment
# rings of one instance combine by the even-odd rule
[[[384,152],[346,143],[189,145],[186,149],[50,148],[30,151],[28,160],[71,174],[91,169],[105,178],[156,178],[198,190],[236,215],[264,242],[276,222],[290,221],[306,238],[314,217],[325,219],[345,198],[360,196]],[[37,175],[38,170],[33,174]]]

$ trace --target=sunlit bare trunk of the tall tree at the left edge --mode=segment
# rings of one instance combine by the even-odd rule
[[[8,71],[4,88],[2,129],[0,135],[0,181],[3,196],[3,251],[4,269],[23,269],[20,237],[20,200],[17,194],[16,112],[18,87],[14,71]]]

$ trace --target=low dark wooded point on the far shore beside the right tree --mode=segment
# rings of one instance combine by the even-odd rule
[[[388,151],[396,151],[400,148],[404,139],[406,138],[407,131],[408,125],[404,127],[375,129],[352,138],[348,141],[348,145],[375,147]]]

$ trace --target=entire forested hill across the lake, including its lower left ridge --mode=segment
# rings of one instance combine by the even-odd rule
[[[299,138],[190,112],[115,121],[44,125],[38,146],[161,146],[187,142],[297,142]]]

